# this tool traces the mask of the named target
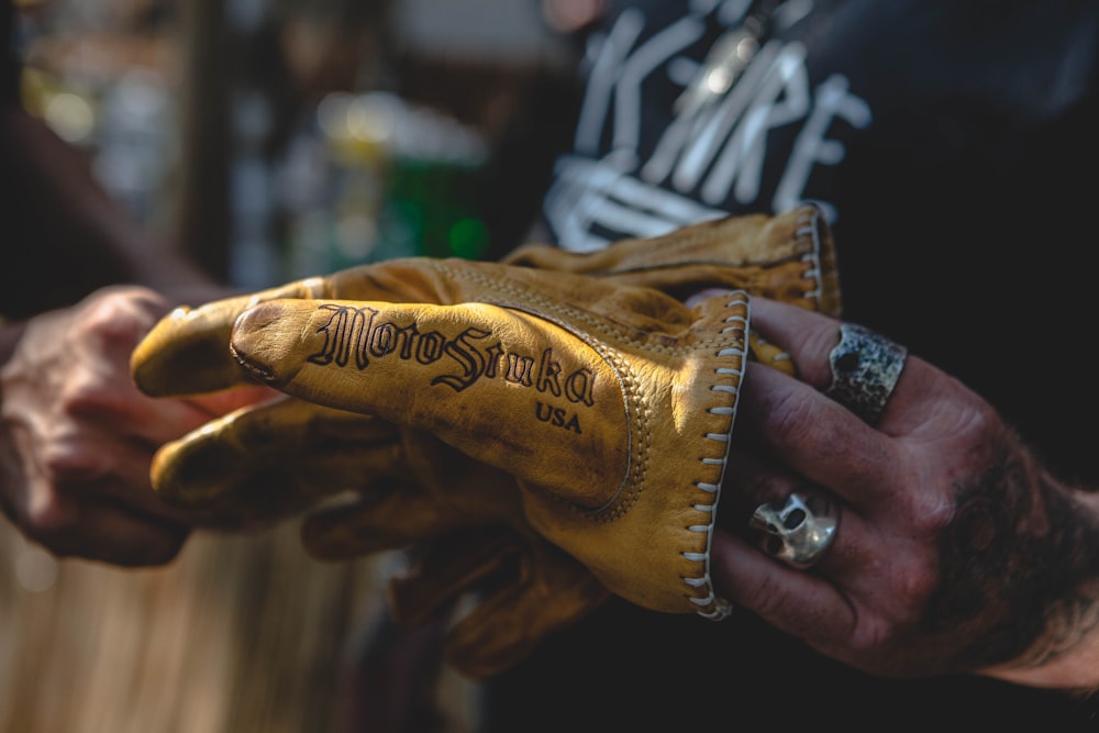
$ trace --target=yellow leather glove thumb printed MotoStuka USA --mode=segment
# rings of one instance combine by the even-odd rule
[[[540,467],[554,465],[554,490],[592,509],[626,473],[619,373],[588,342],[518,310],[271,301],[240,318],[232,348],[277,389],[434,433],[520,478],[545,481]],[[606,459],[580,465],[581,451]]]

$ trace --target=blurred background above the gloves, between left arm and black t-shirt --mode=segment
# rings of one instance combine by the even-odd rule
[[[600,5],[16,4],[27,105],[135,215],[245,287],[510,246],[568,134],[574,31]]]

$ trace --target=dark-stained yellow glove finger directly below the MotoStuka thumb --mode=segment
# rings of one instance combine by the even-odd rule
[[[392,425],[282,396],[166,444],[152,481],[174,506],[260,520],[366,490],[401,470]]]

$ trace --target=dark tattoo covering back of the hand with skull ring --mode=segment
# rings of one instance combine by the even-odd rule
[[[1099,624],[1099,526],[1033,457],[1002,456],[957,501],[925,623],[932,632],[984,628],[959,651],[959,669],[1037,667]]]

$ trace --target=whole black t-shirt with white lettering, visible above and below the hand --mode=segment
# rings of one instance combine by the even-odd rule
[[[612,8],[550,231],[586,249],[819,201],[844,316],[975,388],[1064,477],[1099,484],[1099,3],[789,0],[737,84],[685,97],[744,4]],[[1099,730],[1095,706],[1059,692],[874,678],[744,612],[715,624],[625,602],[543,644],[488,700],[493,732]]]

